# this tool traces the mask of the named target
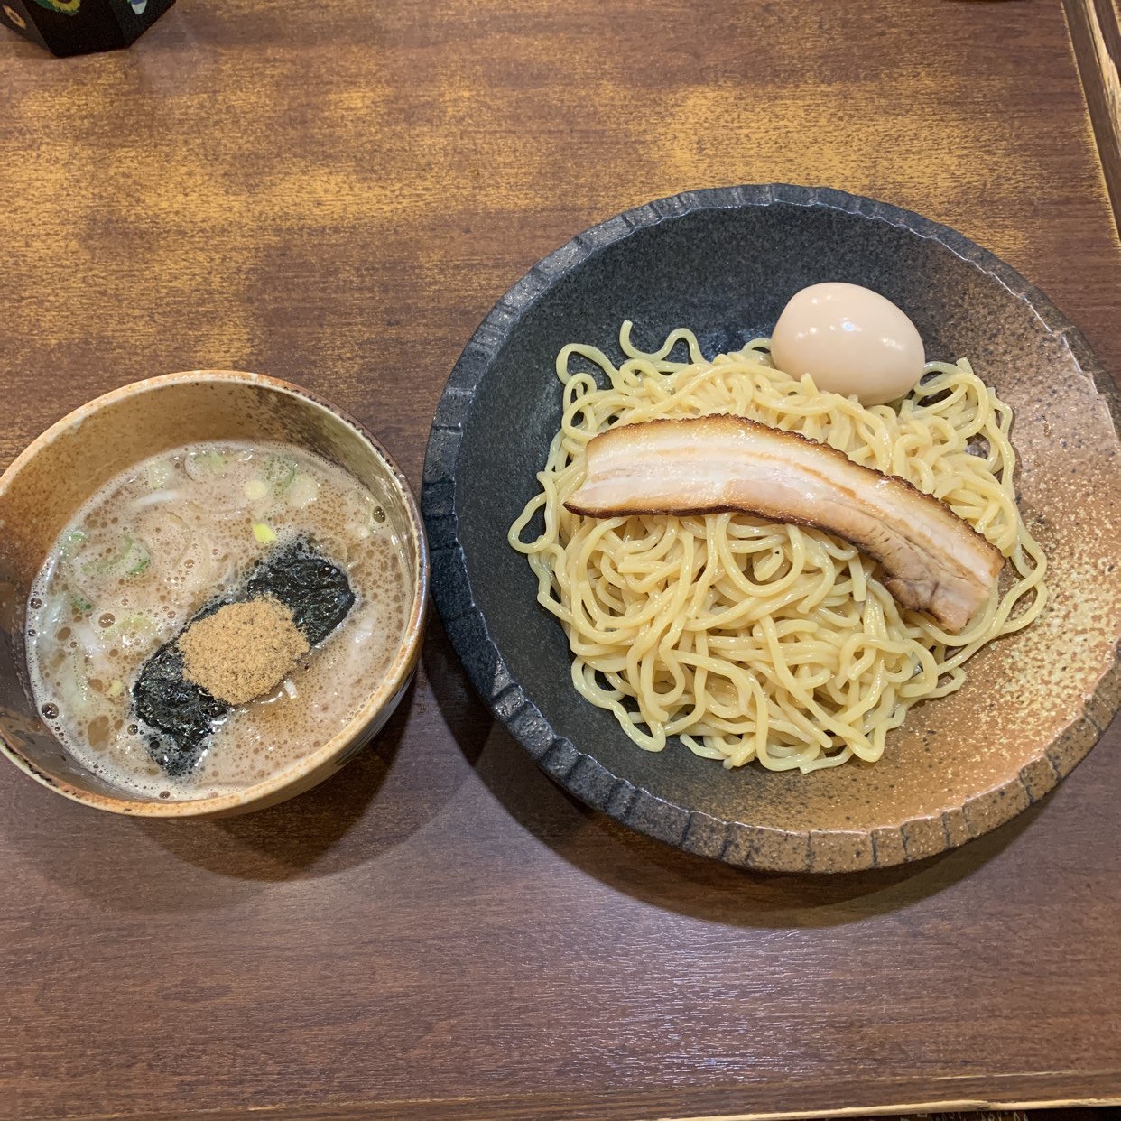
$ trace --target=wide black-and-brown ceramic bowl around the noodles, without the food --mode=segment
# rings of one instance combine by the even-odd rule
[[[507,544],[559,423],[554,360],[574,341],[619,360],[623,319],[645,348],[692,327],[712,356],[768,334],[787,299],[822,280],[882,293],[918,326],[928,358],[969,356],[1012,405],[1020,508],[1050,564],[1046,612],[974,657],[958,693],[916,706],[874,767],[726,771],[680,743],[648,753],[574,692],[565,636]],[[573,239],[515,285],[467,344],[425,464],[434,596],[494,715],[597,809],[752,868],[917,860],[1045,795],[1118,707],[1117,415],[1113,383],[1078,332],[953,230],[839,191],[689,192]]]

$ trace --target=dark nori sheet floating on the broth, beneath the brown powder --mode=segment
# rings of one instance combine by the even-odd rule
[[[300,539],[259,560],[240,589],[212,600],[192,617],[187,627],[226,603],[265,595],[274,596],[291,611],[293,621],[308,646],[322,642],[354,605],[346,573]],[[183,676],[183,655],[177,642],[178,634],[161,646],[140,668],[132,686],[137,716],[152,729],[148,754],[170,778],[189,775],[198,766],[214,722],[230,711],[225,701]]]

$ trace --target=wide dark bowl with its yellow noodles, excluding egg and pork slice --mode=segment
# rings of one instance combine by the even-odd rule
[[[827,281],[909,316],[912,390],[777,368],[784,306]],[[434,599],[495,716],[622,823],[776,871],[923,859],[1046,795],[1121,702],[1117,416],[1078,332],[961,234],[832,189],[689,192],[577,235],[465,348],[425,464]],[[859,535],[574,501],[605,433],[713,418],[936,500],[999,578],[949,627]]]

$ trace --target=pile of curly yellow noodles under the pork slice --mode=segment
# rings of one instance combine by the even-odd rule
[[[911,705],[960,688],[969,658],[1043,610],[1046,559],[1016,507],[1011,409],[964,359],[928,363],[897,407],[864,407],[773,369],[767,339],[712,362],[684,328],[643,353],[627,322],[619,342],[619,367],[594,346],[558,354],[560,429],[509,540],[568,636],[574,687],[639,747],[660,751],[679,736],[725,767],[803,772],[874,762]],[[680,345],[685,361],[670,356]],[[600,374],[571,369],[574,359]],[[1008,558],[1000,586],[948,634],[901,609],[874,562],[815,529],[739,513],[594,519],[564,508],[597,433],[713,413],[802,433],[939,498]],[[538,515],[543,532],[522,540]]]

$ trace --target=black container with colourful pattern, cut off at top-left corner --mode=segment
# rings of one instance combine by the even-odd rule
[[[127,47],[175,0],[0,0],[0,24],[56,55]]]

